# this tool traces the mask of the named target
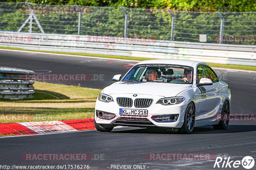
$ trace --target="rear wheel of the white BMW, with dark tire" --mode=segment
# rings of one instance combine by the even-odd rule
[[[221,110],[221,118],[219,124],[212,125],[215,130],[225,130],[228,128],[229,123],[229,114],[230,114],[230,107],[228,100],[226,100],[223,104],[222,110]]]

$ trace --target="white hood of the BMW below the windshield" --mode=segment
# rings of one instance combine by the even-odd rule
[[[191,84],[160,83],[160,82],[124,82],[119,81],[103,89],[104,94],[145,94],[171,97],[192,88]]]

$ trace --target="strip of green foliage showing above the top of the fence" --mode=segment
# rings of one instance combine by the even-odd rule
[[[25,2],[26,0],[0,0],[3,2]],[[29,0],[33,4],[45,5],[83,5],[147,8],[162,7],[212,7],[216,11],[250,12],[256,11],[254,0]]]

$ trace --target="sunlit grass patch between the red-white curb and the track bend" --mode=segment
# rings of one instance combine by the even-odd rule
[[[0,123],[93,118],[100,89],[36,82],[32,99],[0,99]]]

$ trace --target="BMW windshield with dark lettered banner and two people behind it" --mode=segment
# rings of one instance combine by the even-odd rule
[[[140,64],[125,75],[122,81],[165,82],[192,84],[193,67],[171,64]]]

